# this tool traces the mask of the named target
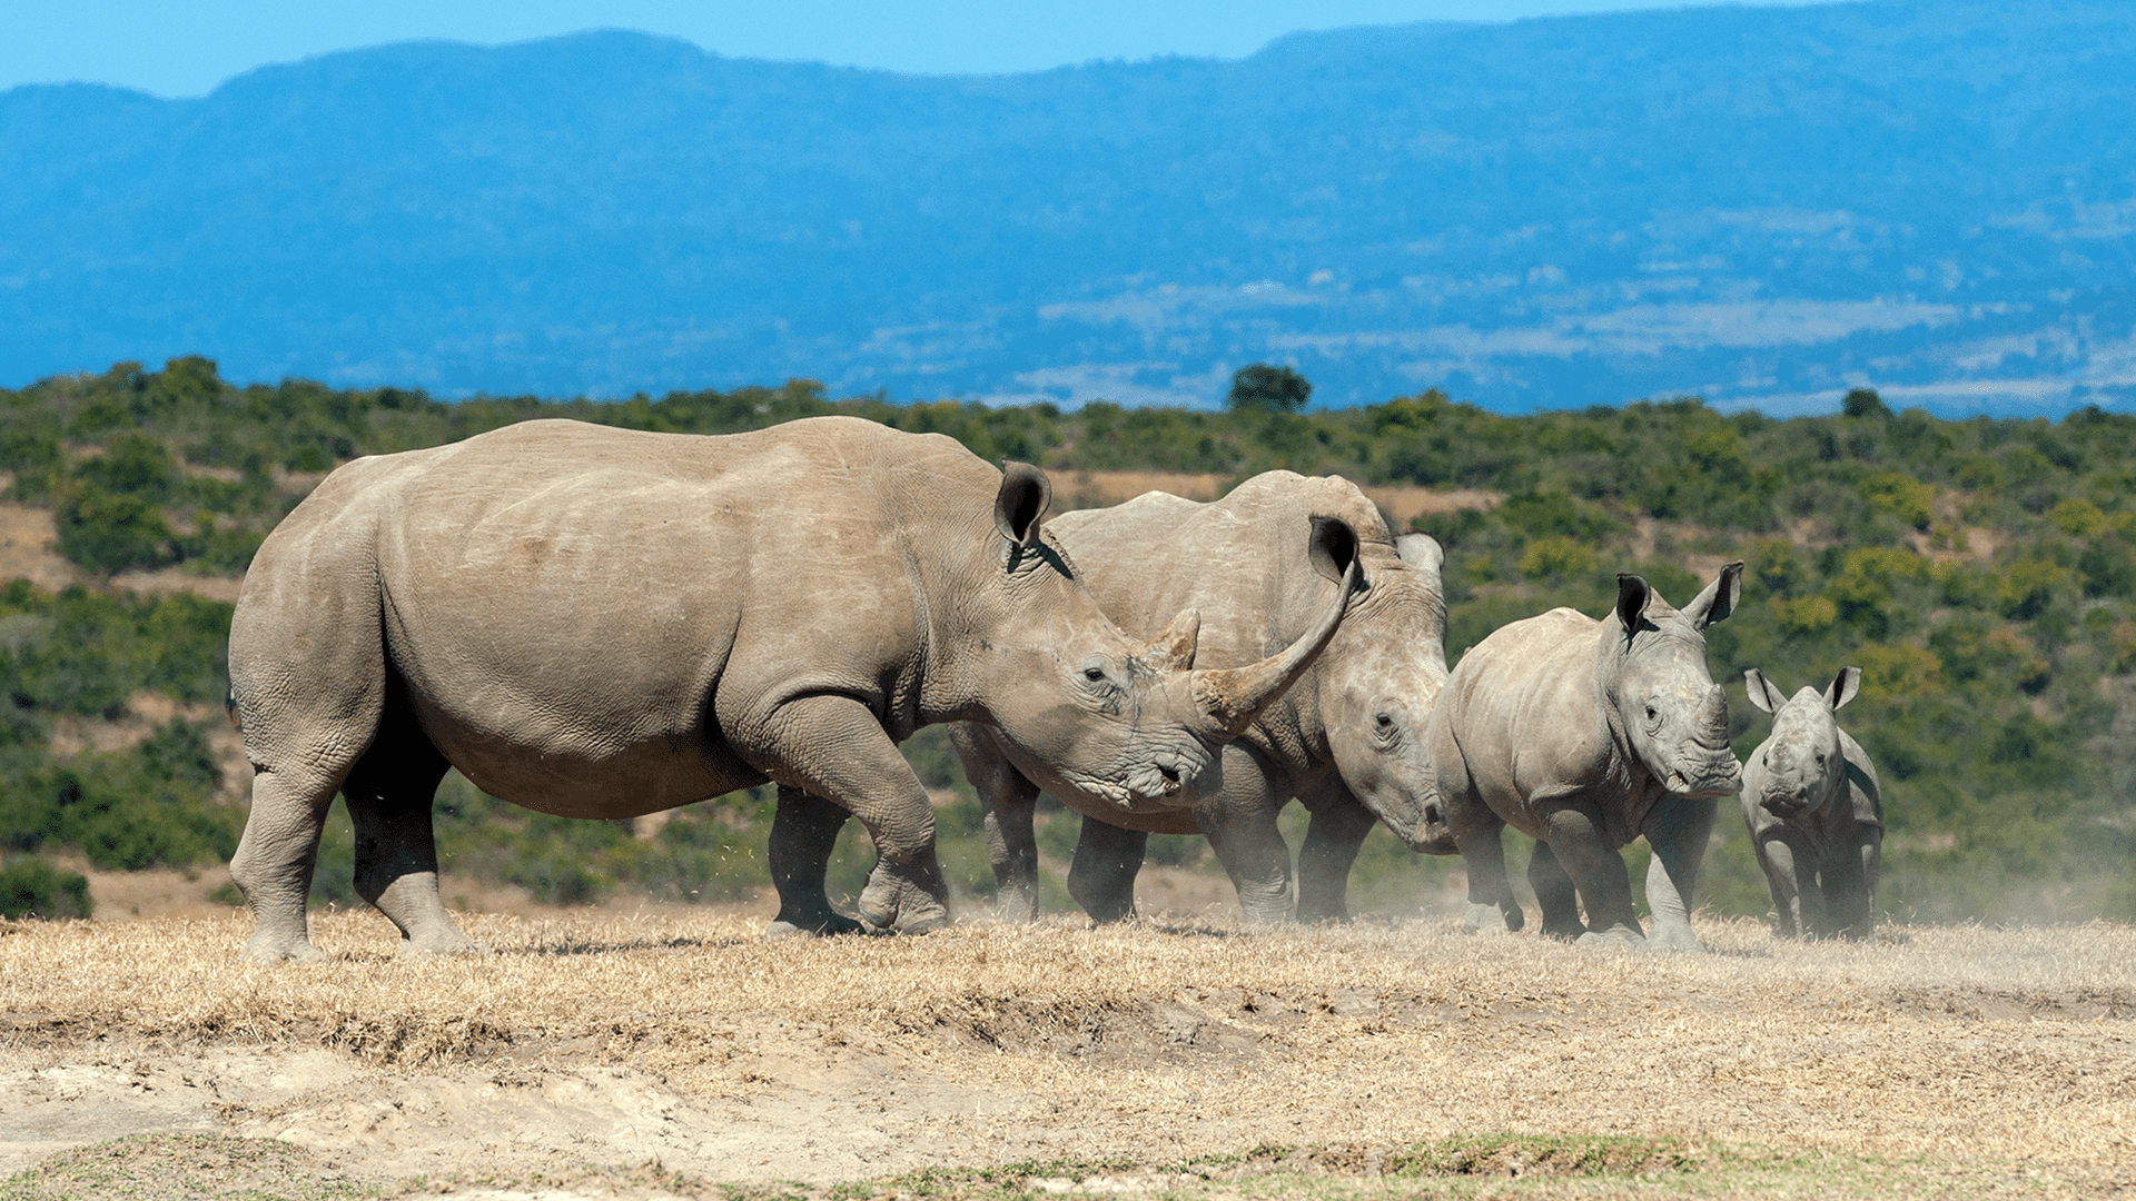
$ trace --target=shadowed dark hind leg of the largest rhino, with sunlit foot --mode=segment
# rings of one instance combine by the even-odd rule
[[[481,951],[438,898],[438,842],[429,806],[449,763],[389,697],[378,737],[342,782],[357,827],[357,895],[402,932],[402,955]]]

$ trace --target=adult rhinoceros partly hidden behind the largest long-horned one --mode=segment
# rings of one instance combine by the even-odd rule
[[[1211,665],[1252,662],[1316,626],[1346,558],[1331,536],[1356,539],[1354,558],[1369,581],[1320,660],[1224,746],[1222,771],[1203,776],[1203,789],[1138,806],[1047,789],[1083,812],[1068,891],[1085,913],[1098,921],[1134,913],[1134,874],[1151,833],[1207,833],[1247,921],[1288,919],[1290,848],[1275,816],[1290,797],[1312,812],[1297,872],[1303,919],[1348,917],[1350,863],[1373,818],[1427,848],[1423,799],[1431,782],[1420,735],[1446,684],[1435,541],[1393,539],[1348,481],[1286,470],[1258,474],[1211,504],[1149,492],[1115,509],[1066,513],[1051,530],[1098,607],[1128,633],[1156,633],[1168,613],[1196,609]],[[1040,784],[1015,769],[1000,731],[959,724],[951,737],[987,806],[1000,915],[1027,919],[1038,902],[1032,812]]]

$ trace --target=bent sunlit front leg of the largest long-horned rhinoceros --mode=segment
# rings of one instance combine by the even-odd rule
[[[867,827],[876,868],[861,889],[863,921],[904,934],[948,921],[927,789],[867,705],[839,695],[797,697],[780,703],[750,742],[758,744],[760,771],[835,801]]]

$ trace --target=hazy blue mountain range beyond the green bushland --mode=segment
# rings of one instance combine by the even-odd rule
[[[628,32],[0,92],[0,383],[2136,408],[2136,4],[910,77]]]

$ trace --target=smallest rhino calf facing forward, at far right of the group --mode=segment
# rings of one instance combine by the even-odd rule
[[[1784,938],[1867,938],[1875,923],[1884,789],[1837,722],[1860,677],[1843,667],[1826,690],[1784,701],[1756,667],[1743,673],[1749,703],[1773,714],[1773,735],[1743,765],[1743,823]]]

